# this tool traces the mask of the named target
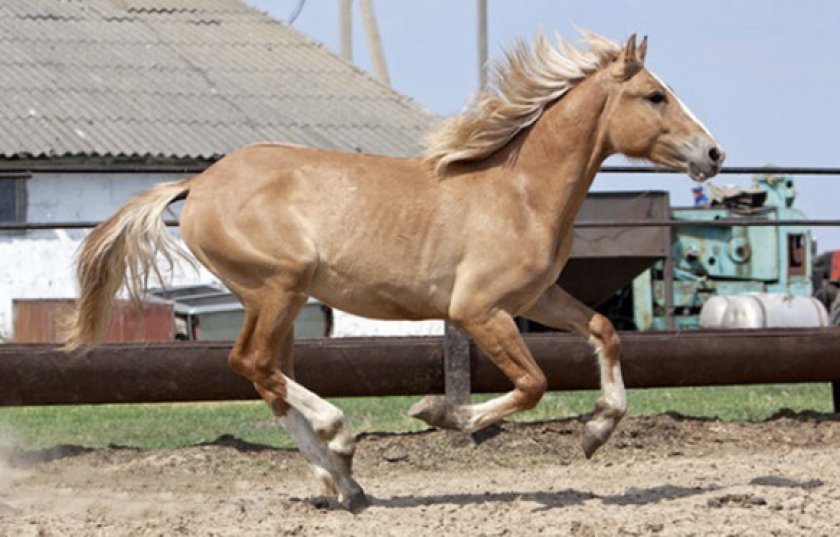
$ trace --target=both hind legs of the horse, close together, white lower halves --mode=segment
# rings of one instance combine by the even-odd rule
[[[285,375],[292,372],[293,321],[306,301],[298,292],[263,290],[260,302],[248,304],[243,331],[230,355],[234,371],[254,382],[260,396],[280,417],[301,453],[313,465],[329,490],[337,489],[339,500],[350,510],[367,505],[352,478],[355,439],[344,414]]]

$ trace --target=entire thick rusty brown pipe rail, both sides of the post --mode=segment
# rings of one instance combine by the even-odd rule
[[[624,332],[629,387],[840,379],[840,329]],[[592,348],[570,334],[526,342],[552,390],[598,387]],[[298,380],[324,396],[443,393],[442,338],[354,338],[295,344]],[[55,345],[0,345],[0,405],[256,398],[227,366],[230,343],[110,344],[65,354]],[[472,391],[511,384],[471,345]]]

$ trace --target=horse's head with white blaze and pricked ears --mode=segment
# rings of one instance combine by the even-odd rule
[[[723,148],[679,97],[645,69],[647,37],[631,37],[608,67],[618,90],[608,100],[607,140],[613,151],[682,170],[695,181],[717,174]]]

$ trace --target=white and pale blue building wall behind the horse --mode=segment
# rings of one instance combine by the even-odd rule
[[[35,173],[27,184],[29,222],[99,221],[132,195],[152,185],[184,178],[180,174]],[[173,206],[177,208],[177,205]],[[83,230],[0,232],[0,341],[12,337],[12,299],[72,298],[76,295],[73,259]],[[185,263],[164,274],[169,285],[216,283],[203,267]],[[371,321],[336,312],[338,337],[442,334],[443,323]]]

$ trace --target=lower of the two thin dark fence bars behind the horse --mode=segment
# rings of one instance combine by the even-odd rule
[[[31,223],[3,223],[0,231],[34,231],[42,229],[89,229],[102,222],[31,222]],[[166,220],[167,226],[177,227],[176,220]],[[595,220],[575,222],[575,228],[601,227],[770,227],[770,226],[810,226],[810,227],[840,227],[840,220],[749,220],[746,218],[721,218],[720,220]]]

